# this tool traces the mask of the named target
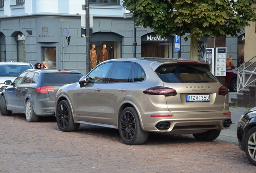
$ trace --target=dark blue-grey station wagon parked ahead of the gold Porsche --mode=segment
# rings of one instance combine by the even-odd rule
[[[26,70],[14,82],[6,80],[0,95],[0,112],[25,113],[28,122],[36,122],[39,116],[54,115],[55,96],[64,84],[78,82],[83,75],[76,70]]]

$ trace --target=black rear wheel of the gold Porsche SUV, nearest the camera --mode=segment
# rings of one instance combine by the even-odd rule
[[[141,129],[138,113],[134,107],[125,108],[118,122],[119,133],[127,145],[139,145],[147,141],[149,133]]]

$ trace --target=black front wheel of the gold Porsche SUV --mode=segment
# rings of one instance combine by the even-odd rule
[[[59,129],[64,132],[77,131],[80,126],[80,123],[74,123],[71,108],[67,100],[63,100],[58,104],[56,121]]]

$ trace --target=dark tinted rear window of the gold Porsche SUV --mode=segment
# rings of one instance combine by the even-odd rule
[[[160,66],[155,71],[163,82],[169,83],[196,83],[217,82],[218,80],[202,66]]]

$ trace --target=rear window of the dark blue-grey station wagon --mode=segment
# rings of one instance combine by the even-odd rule
[[[45,84],[69,84],[78,82],[82,76],[79,73],[45,73],[43,81]]]

